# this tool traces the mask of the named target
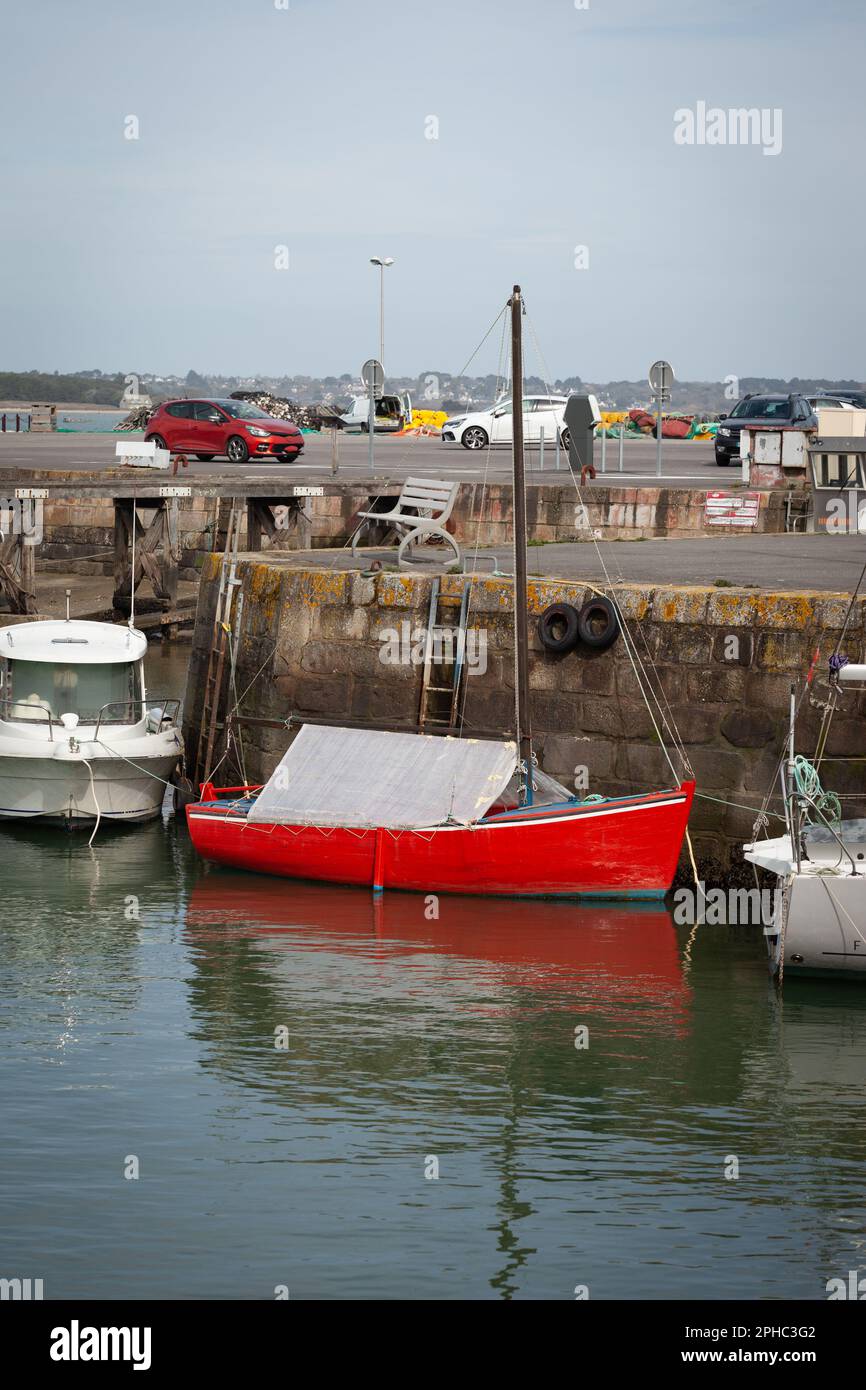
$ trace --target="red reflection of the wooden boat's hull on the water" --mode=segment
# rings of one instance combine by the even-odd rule
[[[439,917],[427,913],[438,906]],[[574,988],[582,999],[655,1006],[680,1024],[691,991],[662,906],[373,895],[357,888],[211,873],[196,883],[188,929],[289,938],[293,949],[410,951],[493,966],[500,983]],[[489,972],[488,972],[489,976]]]

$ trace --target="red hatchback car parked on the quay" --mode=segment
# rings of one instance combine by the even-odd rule
[[[231,463],[263,455],[292,460],[303,449],[297,425],[274,420],[249,400],[164,400],[147,421],[145,438],[172,453],[204,460],[224,455]]]

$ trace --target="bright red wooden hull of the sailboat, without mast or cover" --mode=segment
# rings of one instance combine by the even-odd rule
[[[286,878],[507,897],[662,897],[683,847],[695,784],[585,806],[539,806],[471,828],[349,830],[247,821],[197,802],[186,821],[215,863]]]

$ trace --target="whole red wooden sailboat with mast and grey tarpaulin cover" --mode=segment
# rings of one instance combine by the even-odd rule
[[[510,310],[516,741],[304,724],[267,785],[203,785],[186,808],[203,858],[375,891],[644,898],[670,888],[694,781],[580,802],[534,767],[518,286]]]

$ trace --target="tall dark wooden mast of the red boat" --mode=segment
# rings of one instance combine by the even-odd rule
[[[516,734],[525,767],[525,802],[532,802],[532,724],[530,719],[530,626],[527,598],[527,491],[523,461],[523,296],[512,304],[512,459],[514,473],[514,646],[517,651]]]

